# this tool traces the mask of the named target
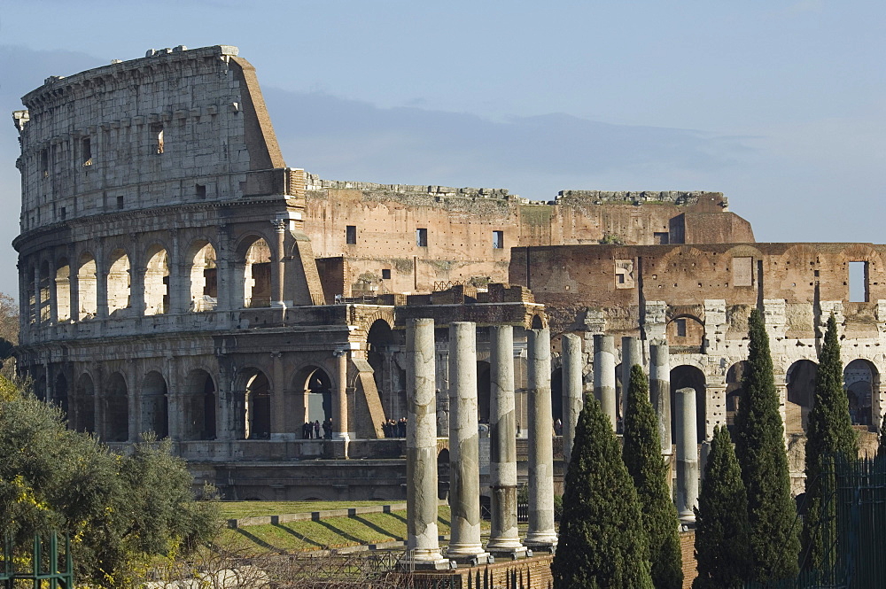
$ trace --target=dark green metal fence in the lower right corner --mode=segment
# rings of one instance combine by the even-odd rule
[[[886,460],[828,459],[821,486],[821,515],[811,532],[824,546],[820,567],[747,589],[886,587]]]

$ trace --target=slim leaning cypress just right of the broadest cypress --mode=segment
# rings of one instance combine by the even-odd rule
[[[680,522],[671,498],[670,469],[662,457],[656,414],[649,403],[649,381],[640,366],[631,368],[622,456],[643,506],[652,582],[656,589],[680,589],[683,586]]]

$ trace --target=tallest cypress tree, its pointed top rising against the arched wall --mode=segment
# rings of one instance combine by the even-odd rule
[[[800,538],[773,359],[759,309],[750,314],[749,336],[748,369],[735,415],[735,454],[748,492],[753,579],[766,582],[797,576]]]

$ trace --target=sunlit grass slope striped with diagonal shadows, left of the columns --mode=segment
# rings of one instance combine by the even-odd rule
[[[374,504],[375,502],[366,501]],[[385,502],[381,502],[385,504]],[[291,505],[283,503],[280,505]],[[320,505],[320,504],[313,504]],[[323,503],[328,505],[328,503]],[[349,507],[357,507],[348,503]],[[316,511],[312,508],[308,511]],[[294,513],[275,511],[274,513]],[[449,508],[439,508],[439,533],[449,533]],[[488,528],[488,522],[484,522]],[[251,525],[238,530],[225,530],[219,544],[240,554],[297,552],[341,548],[358,544],[377,544],[406,539],[406,511],[389,514],[363,514],[354,517],[330,517],[319,522],[286,522],[278,525]]]

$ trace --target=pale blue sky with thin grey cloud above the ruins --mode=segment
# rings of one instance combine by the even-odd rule
[[[325,178],[717,190],[758,241],[883,241],[882,2],[0,0],[0,107],[179,44],[237,45],[286,163]],[[8,122],[0,243],[17,150]]]

